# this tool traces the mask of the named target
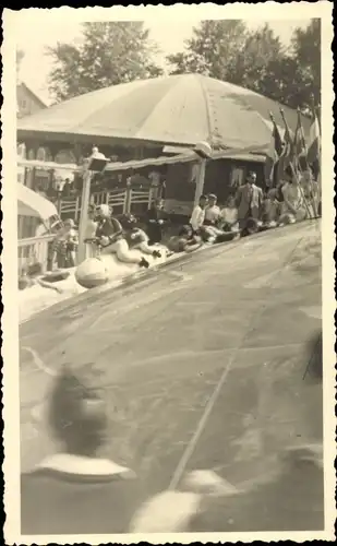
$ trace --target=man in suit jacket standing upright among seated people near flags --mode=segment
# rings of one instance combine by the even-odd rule
[[[238,218],[240,227],[245,228],[246,221],[257,221],[263,202],[263,191],[256,186],[256,173],[250,171],[246,181],[237,192]]]

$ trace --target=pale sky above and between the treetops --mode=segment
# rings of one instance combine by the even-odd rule
[[[214,5],[214,4],[209,4]],[[243,5],[243,4],[241,4]],[[244,4],[246,8],[248,4]],[[288,4],[289,7],[289,4]],[[200,8],[196,10],[196,8]],[[62,8],[63,10],[63,8]],[[67,8],[64,9],[67,10]],[[95,10],[95,9],[94,9]],[[100,9],[101,10],[101,9]],[[45,55],[45,49],[48,46],[55,46],[58,41],[80,41],[81,40],[81,22],[83,21],[93,21],[93,20],[108,20],[106,12],[111,12],[113,9],[104,10],[104,16],[99,13],[88,13],[89,9],[85,10],[72,10],[70,9],[71,14],[76,12],[76,16],[64,16],[65,14],[61,13],[60,9],[56,10],[21,10],[23,16],[19,16],[15,24],[15,35],[16,35],[16,47],[22,49],[25,52],[25,57],[21,64],[20,78],[24,81],[34,91],[40,98],[50,103],[50,96],[48,93],[48,73],[51,70],[51,61]],[[130,10],[130,9],[121,9],[121,10]],[[184,7],[184,17],[177,17],[178,13],[165,12],[165,17],[163,17],[163,13],[165,8],[161,8],[159,12],[161,16],[148,16],[152,14],[145,13],[147,16],[141,16],[142,13],[136,13],[133,9],[133,12],[127,12],[128,16],[124,15],[123,12],[117,19],[142,19],[145,21],[145,25],[149,28],[149,37],[154,41],[157,43],[159,47],[159,54],[157,61],[160,64],[165,63],[165,57],[169,54],[173,54],[177,51],[181,51],[184,46],[184,40],[188,39],[192,34],[193,26],[197,25],[197,23],[203,19],[222,19],[219,16],[221,14],[221,10],[219,7],[216,8],[216,16],[212,16],[210,10],[208,9],[206,12],[201,9],[201,7]],[[103,10],[101,10],[103,11]],[[246,10],[244,10],[245,12]],[[269,10],[268,10],[269,11]],[[45,12],[45,13],[41,13]],[[79,12],[84,12],[84,14],[80,17]],[[158,12],[157,12],[158,13]],[[284,12],[284,16],[287,12]],[[261,20],[255,19],[256,12],[254,12],[253,19],[244,19],[245,23],[250,28],[257,28],[262,26],[264,23],[268,23],[269,26],[274,29],[276,35],[278,35],[281,41],[285,45],[289,45],[292,32],[296,27],[305,27],[309,23],[309,19],[270,19],[270,20]],[[167,16],[168,15],[168,16]],[[189,15],[189,16],[186,16]],[[273,15],[273,12],[270,13]],[[116,16],[113,16],[116,20]],[[225,19],[225,17],[224,17]],[[234,17],[228,17],[234,19]],[[239,19],[239,17],[236,17]],[[240,17],[241,19],[241,17]],[[243,17],[242,17],[243,19]]]

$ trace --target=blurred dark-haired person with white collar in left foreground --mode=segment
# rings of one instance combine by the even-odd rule
[[[107,410],[87,376],[64,367],[55,380],[48,422],[63,450],[21,476],[24,535],[124,533],[144,500],[130,468],[98,455]]]

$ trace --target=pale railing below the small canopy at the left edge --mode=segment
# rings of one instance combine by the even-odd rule
[[[55,235],[45,235],[43,237],[28,237],[17,241],[17,265],[19,271],[22,268],[39,262],[43,271],[48,265],[48,246],[55,238]]]

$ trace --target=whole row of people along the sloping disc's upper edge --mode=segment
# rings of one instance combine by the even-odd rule
[[[250,171],[245,182],[236,194],[228,197],[224,207],[218,205],[215,194],[201,195],[189,224],[165,241],[167,253],[191,252],[205,242],[234,240],[258,230],[314,218],[321,214],[320,207],[320,187],[311,171],[297,177],[292,169],[287,169],[285,180],[265,192],[256,185],[256,174]],[[147,211],[144,229],[132,215],[115,217],[108,204],[91,205],[84,237],[86,257],[115,253],[121,262],[147,269],[147,256],[161,256],[163,250],[156,245],[163,241],[168,221],[161,199],[155,200]],[[79,247],[74,221],[58,221],[52,232],[55,238],[49,246],[48,271],[53,270],[55,263],[58,270],[74,268]],[[134,249],[141,250],[143,256],[132,252]]]

